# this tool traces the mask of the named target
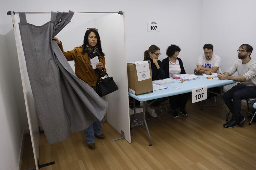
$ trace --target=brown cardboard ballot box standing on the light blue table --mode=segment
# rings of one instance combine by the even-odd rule
[[[130,93],[139,95],[153,92],[150,61],[127,63],[127,73]]]

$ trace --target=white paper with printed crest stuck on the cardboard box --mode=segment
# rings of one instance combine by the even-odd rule
[[[148,61],[135,62],[138,81],[147,80],[151,78]]]

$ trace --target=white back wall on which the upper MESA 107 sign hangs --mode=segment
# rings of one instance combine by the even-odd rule
[[[202,16],[202,0],[130,0],[130,1],[104,1],[95,0],[93,5],[90,1],[7,1],[4,0],[0,7],[4,23],[10,23],[10,16],[5,15],[7,11],[14,10],[25,12],[51,12],[51,11],[108,11],[118,12],[125,11],[126,18],[126,37],[127,37],[127,61],[143,60],[143,53],[152,44],[159,46],[162,56],[160,60],[166,58],[165,52],[169,45],[177,44],[182,51],[180,57],[184,60],[185,69],[191,73],[194,66],[191,65],[190,59],[199,56],[200,29]],[[61,2],[61,3],[60,3]],[[29,5],[28,5],[29,4]],[[50,5],[51,4],[51,5]],[[97,8],[95,8],[97,6]],[[99,14],[79,15],[82,23],[91,20]],[[34,20],[42,14],[27,15],[28,22],[33,24],[43,24],[50,15],[44,15],[43,20]],[[32,16],[32,17],[30,17]],[[147,21],[157,20],[161,22],[160,32],[147,32]],[[79,19],[72,19],[63,31],[72,29],[72,22],[77,23]],[[110,23],[111,24],[111,23]],[[5,26],[11,29],[11,26]],[[81,35],[83,36],[83,35]],[[113,35],[114,36],[114,35]],[[81,42],[82,43],[82,42]],[[77,44],[80,45],[80,44]],[[103,49],[104,50],[104,49]],[[188,60],[187,60],[188,59]],[[195,65],[196,62],[193,62]]]

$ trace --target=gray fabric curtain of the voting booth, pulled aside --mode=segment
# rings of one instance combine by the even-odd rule
[[[108,105],[76,77],[52,40],[70,22],[73,14],[72,11],[52,12],[51,21],[35,26],[27,23],[24,12],[19,12],[28,76],[49,144],[61,142],[70,133],[86,129],[95,120],[102,120]]]

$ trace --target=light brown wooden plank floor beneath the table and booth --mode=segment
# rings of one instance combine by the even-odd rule
[[[243,127],[223,128],[226,121],[221,106],[200,110],[191,101],[187,112],[189,116],[173,118],[165,111],[162,117],[149,120],[152,147],[144,127],[131,130],[136,134],[131,144],[124,139],[112,142],[120,135],[107,122],[102,124],[106,139],[95,139],[95,150],[86,146],[82,131],[54,145],[48,145],[41,134],[40,163],[55,164],[40,170],[256,169],[256,123],[248,125],[246,119]],[[34,166],[33,153],[26,153],[31,151],[29,147],[31,143],[25,142],[22,169]]]

